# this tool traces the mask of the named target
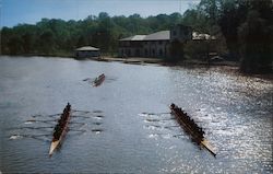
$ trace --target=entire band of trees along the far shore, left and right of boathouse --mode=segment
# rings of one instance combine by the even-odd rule
[[[182,15],[109,16],[102,12],[98,16],[90,15],[80,21],[41,19],[35,25],[2,27],[1,54],[72,56],[76,47],[85,45],[115,54],[119,38],[185,24],[217,39],[213,44],[183,44],[179,59],[202,60],[207,49],[213,49],[227,60],[239,61],[242,72],[266,73],[272,71],[273,59],[272,3],[272,0],[201,0]]]

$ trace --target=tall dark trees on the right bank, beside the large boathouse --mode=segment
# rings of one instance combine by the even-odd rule
[[[240,60],[242,72],[272,71],[272,0],[201,0],[185,12],[183,23],[216,36],[214,50],[228,53],[229,60]],[[198,57],[205,47],[205,43],[190,42],[186,49]]]

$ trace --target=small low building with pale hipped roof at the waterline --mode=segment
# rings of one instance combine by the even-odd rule
[[[84,46],[75,49],[75,58],[99,57],[99,49],[91,46]]]

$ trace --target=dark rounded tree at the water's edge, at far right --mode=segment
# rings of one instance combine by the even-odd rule
[[[266,21],[260,18],[260,13],[251,10],[247,20],[239,27],[241,43],[240,69],[247,73],[265,73],[271,71],[272,35],[273,27],[266,26]]]

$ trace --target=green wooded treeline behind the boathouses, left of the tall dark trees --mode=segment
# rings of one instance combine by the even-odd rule
[[[60,55],[69,54],[80,46],[91,45],[99,47],[103,53],[112,53],[117,51],[119,38],[169,30],[171,25],[180,23],[181,19],[179,13],[143,19],[139,14],[110,18],[105,12],[81,21],[41,19],[36,25],[3,27],[1,50],[8,55]]]

